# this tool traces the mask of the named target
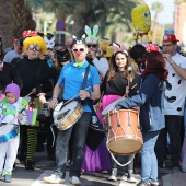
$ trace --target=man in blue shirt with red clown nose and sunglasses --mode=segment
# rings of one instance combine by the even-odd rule
[[[83,35],[84,36],[84,35]],[[78,39],[73,36],[72,53],[74,61],[69,62],[62,68],[58,82],[53,93],[53,100],[49,103],[49,107],[55,109],[58,103],[58,95],[63,88],[62,100],[69,101],[75,97],[75,100],[84,101],[85,98],[97,100],[100,97],[100,78],[95,67],[90,66],[88,74],[88,81],[85,90],[82,90],[83,79],[89,62],[85,60],[88,54],[88,46],[84,43],[84,37]],[[92,113],[91,108],[82,104],[83,114],[81,118],[67,130],[58,130],[56,140],[56,163],[57,166],[54,174],[49,177],[43,177],[44,182],[53,184],[63,184],[66,177],[66,162],[68,153],[68,143],[73,129],[73,156],[72,164],[70,166],[70,183],[72,185],[81,185],[79,179],[81,175],[81,165],[83,162],[85,151],[85,140],[88,136],[89,125],[91,124]]]

